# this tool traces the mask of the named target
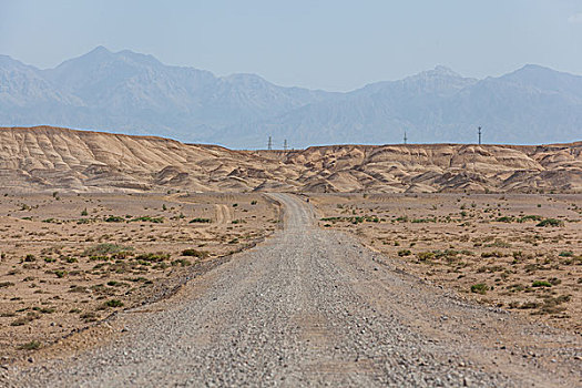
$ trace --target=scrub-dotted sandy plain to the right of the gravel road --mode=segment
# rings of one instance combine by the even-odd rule
[[[319,226],[479,303],[582,334],[582,195],[309,195]]]

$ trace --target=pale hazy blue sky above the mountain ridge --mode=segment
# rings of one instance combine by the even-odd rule
[[[0,53],[47,68],[99,44],[326,90],[436,64],[580,74],[582,0],[0,0]]]

